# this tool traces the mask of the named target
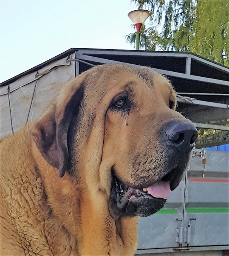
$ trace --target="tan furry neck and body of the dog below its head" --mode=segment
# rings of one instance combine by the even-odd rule
[[[105,201],[94,208],[33,147],[29,126],[1,142],[0,255],[134,255],[137,218],[114,221]]]

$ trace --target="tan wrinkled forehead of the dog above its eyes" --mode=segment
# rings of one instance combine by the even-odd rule
[[[134,67],[122,64],[99,65],[87,72],[85,99],[91,107],[97,104],[101,108],[105,108],[104,102],[112,100],[114,96],[127,87],[129,89],[131,87],[133,92],[142,97],[144,94],[145,96],[152,96],[150,91],[154,88],[164,94],[164,97],[171,93],[174,94],[167,78],[156,73],[150,67]],[[144,90],[142,90],[143,88]]]

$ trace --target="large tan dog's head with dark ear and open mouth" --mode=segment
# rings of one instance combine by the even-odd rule
[[[113,218],[148,216],[180,183],[197,138],[175,108],[174,89],[153,69],[101,65],[65,85],[33,138],[60,177],[103,193]]]

